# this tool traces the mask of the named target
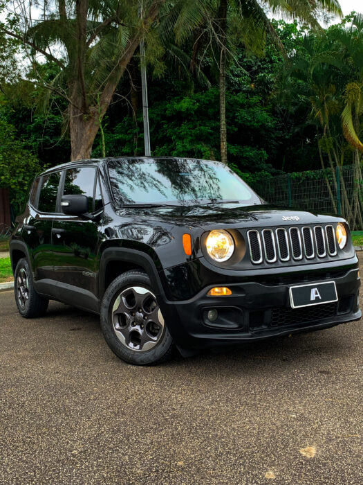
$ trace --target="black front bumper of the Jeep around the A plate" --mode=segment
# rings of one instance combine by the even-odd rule
[[[207,292],[216,284],[207,285],[191,299],[183,301],[160,301],[171,335],[181,349],[203,349],[208,347],[238,344],[262,340],[277,335],[286,335],[308,330],[328,328],[362,317],[359,308],[360,279],[358,265],[348,265],[339,273],[323,275],[310,268],[310,281],[336,283],[338,301],[306,308],[290,307],[289,288],[310,283],[304,276],[288,283],[274,281],[228,281],[218,286],[228,286],[232,295],[208,297]],[[332,277],[333,276],[333,277]],[[218,317],[207,319],[208,310],[216,309]]]

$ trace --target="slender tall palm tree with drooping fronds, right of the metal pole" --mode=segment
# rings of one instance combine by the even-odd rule
[[[283,52],[283,46],[266,11],[298,19],[304,24],[321,29],[317,18],[321,12],[331,12],[342,15],[337,0],[215,0],[207,2],[193,1],[193,17],[197,17],[198,6],[202,6],[205,17],[198,28],[198,36],[194,42],[196,52],[209,51],[218,71],[219,105],[220,105],[220,136],[221,161],[227,163],[227,128],[225,121],[226,70],[227,64],[234,62],[235,47],[243,44],[253,53],[261,54],[266,42],[266,36]],[[190,22],[191,16],[185,20]],[[195,25],[195,24],[194,24]],[[174,30],[177,39],[184,39],[188,31],[181,17]],[[189,30],[193,35],[195,30]]]

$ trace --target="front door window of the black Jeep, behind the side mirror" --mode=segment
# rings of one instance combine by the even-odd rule
[[[64,195],[83,194],[89,197],[89,212],[93,212],[93,191],[95,188],[95,173],[93,167],[72,168],[66,171],[64,180]]]

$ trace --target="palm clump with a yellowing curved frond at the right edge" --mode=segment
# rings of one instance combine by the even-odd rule
[[[343,214],[354,229],[363,226],[363,23],[360,15],[352,20],[350,28],[344,21],[322,37],[306,37],[305,51],[292,58],[290,71],[310,90],[310,123],[317,126],[319,158],[324,168],[327,157],[335,189],[335,168],[340,172],[347,156],[352,156],[348,163],[355,167],[353,194],[348,195],[344,177],[341,184]]]

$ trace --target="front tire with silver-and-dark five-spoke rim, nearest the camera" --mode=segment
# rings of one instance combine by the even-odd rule
[[[100,318],[109,348],[125,362],[155,365],[171,357],[173,340],[145,272],[131,270],[113,280]]]

